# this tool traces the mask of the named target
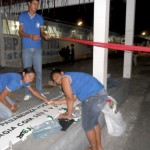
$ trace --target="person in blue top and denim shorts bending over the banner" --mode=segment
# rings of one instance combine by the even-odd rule
[[[77,97],[82,102],[82,127],[90,142],[88,150],[102,150],[98,117],[108,99],[104,85],[83,72],[63,72],[54,69],[51,78],[61,85],[66,97],[57,101],[52,100],[48,104],[66,104],[67,112],[60,114],[59,118],[69,118]]]

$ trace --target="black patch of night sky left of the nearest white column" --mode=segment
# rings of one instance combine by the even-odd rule
[[[55,20],[61,21],[67,24],[76,24],[78,19],[82,19],[84,21],[84,26],[92,27],[93,26],[93,15],[94,15],[94,4],[82,4],[82,5],[74,5],[67,7],[59,7],[52,9],[45,9],[43,12],[38,10],[38,13],[42,14],[42,16],[46,20]],[[69,15],[68,15],[69,13]]]

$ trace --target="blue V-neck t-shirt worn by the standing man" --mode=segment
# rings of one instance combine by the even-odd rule
[[[35,34],[40,37],[40,27],[44,25],[43,17],[37,13],[33,17],[29,12],[21,13],[19,16],[19,24],[23,25],[23,31],[27,34]],[[41,48],[41,39],[32,40],[31,38],[23,37],[23,49],[24,48]]]

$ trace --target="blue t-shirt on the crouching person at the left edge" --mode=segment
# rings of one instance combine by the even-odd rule
[[[22,82],[22,76],[19,73],[2,73],[0,74],[0,93],[7,88],[14,92],[21,87],[28,87],[29,83]]]

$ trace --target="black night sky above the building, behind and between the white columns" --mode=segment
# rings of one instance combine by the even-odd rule
[[[93,27],[93,3],[80,4],[76,6],[67,6],[62,8],[53,8],[43,11],[43,16],[47,20],[57,20],[70,24],[76,24],[77,19],[81,16],[84,20],[84,26]],[[110,25],[109,30],[119,34],[125,32],[125,0],[111,0],[110,2]],[[39,11],[39,13],[41,13]],[[136,0],[135,12],[135,35],[141,34],[142,31],[149,31],[149,4],[148,0]]]

